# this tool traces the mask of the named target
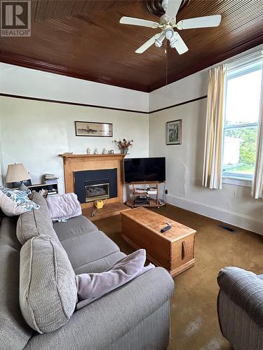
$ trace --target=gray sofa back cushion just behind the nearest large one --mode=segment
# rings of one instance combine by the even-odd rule
[[[23,245],[32,237],[48,235],[60,244],[58,236],[53,229],[46,200],[39,193],[34,193],[33,200],[40,205],[40,208],[20,215],[16,228],[18,241]]]

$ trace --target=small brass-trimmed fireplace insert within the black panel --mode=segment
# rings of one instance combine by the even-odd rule
[[[86,202],[109,198],[109,179],[85,181]]]

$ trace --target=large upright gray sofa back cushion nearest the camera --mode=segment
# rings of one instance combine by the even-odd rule
[[[76,281],[67,253],[53,239],[29,239],[20,252],[20,308],[31,328],[52,332],[76,307]]]

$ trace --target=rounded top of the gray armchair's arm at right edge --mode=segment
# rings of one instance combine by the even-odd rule
[[[262,327],[263,281],[257,274],[239,267],[225,267],[220,270],[217,283],[235,304]]]

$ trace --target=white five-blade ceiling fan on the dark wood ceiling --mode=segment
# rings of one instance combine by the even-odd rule
[[[160,28],[161,33],[152,36],[146,43],[144,43],[135,52],[142,53],[151,45],[155,44],[157,48],[161,48],[163,40],[166,38],[170,41],[170,47],[175,48],[179,55],[187,52],[189,49],[187,45],[182,40],[182,37],[173,28],[182,29],[192,29],[192,28],[204,28],[204,27],[217,27],[221,22],[221,15],[189,18],[189,20],[181,20],[176,22],[176,15],[180,8],[182,0],[163,0],[162,6],[163,10],[166,11],[164,15],[161,16],[159,23],[149,20],[140,20],[139,18],[132,17],[122,17],[120,23],[123,25],[139,25],[142,27],[150,28]]]

